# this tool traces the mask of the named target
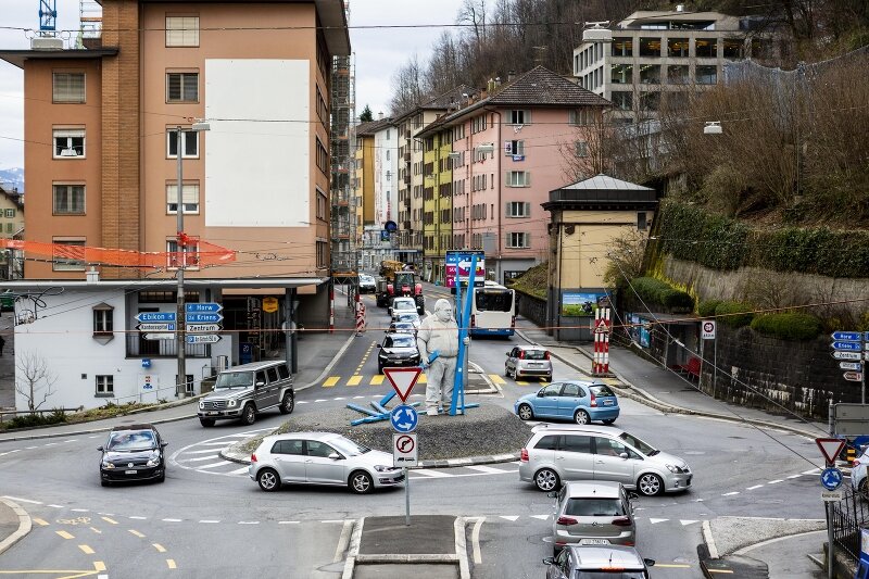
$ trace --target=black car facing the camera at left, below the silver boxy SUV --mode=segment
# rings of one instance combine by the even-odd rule
[[[166,442],[149,424],[116,426],[109,440],[97,450],[100,458],[100,482],[108,487],[127,480],[166,479]]]

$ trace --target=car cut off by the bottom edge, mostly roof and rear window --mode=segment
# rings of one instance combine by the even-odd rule
[[[543,564],[546,579],[648,579],[655,561],[641,557],[632,546],[568,546]]]

